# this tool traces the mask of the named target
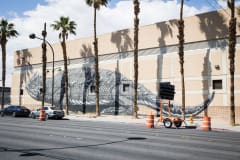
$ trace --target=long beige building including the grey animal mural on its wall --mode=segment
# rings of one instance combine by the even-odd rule
[[[228,59],[229,10],[220,10],[192,17],[185,21],[184,69],[186,106],[201,105],[215,92],[208,107],[210,117],[229,120],[230,73]],[[240,22],[240,16],[236,16]],[[124,23],[124,22],[123,22]],[[178,56],[177,20],[160,22],[139,29],[139,96],[143,101],[158,99],[160,82],[175,85],[172,103],[181,105],[181,75]],[[56,32],[56,36],[58,33]],[[133,97],[133,29],[98,35],[100,69],[100,104],[103,113],[127,113]],[[93,37],[67,42],[69,68],[69,96],[72,111],[94,112],[94,49]],[[12,103],[36,108],[41,105],[42,48],[19,50],[14,56],[12,75]],[[60,43],[55,51],[54,104],[64,107],[63,56]],[[236,122],[240,123],[240,28],[237,26],[235,57]],[[52,53],[47,48],[47,95],[51,104]],[[113,85],[114,84],[114,85]],[[22,90],[20,94],[19,90]],[[149,95],[147,95],[149,94]],[[151,96],[150,96],[151,95]],[[153,95],[156,95],[155,97]],[[147,103],[147,102],[146,102]],[[121,104],[121,105],[120,105]],[[150,103],[149,103],[150,104]],[[139,105],[140,114],[155,112],[147,105]]]

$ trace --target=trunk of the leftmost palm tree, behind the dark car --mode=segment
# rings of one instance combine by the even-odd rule
[[[4,91],[5,91],[5,75],[6,75],[6,41],[1,42],[2,46],[2,103],[1,108],[4,108]]]

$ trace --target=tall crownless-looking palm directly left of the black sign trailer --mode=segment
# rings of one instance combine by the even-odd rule
[[[138,0],[133,1],[134,5],[134,99],[133,99],[133,116],[138,117],[138,106],[137,106],[137,88],[138,88],[138,26],[139,18],[138,14],[140,12]]]

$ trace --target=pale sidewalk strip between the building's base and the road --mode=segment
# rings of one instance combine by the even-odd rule
[[[65,118],[71,120],[82,120],[82,121],[101,121],[101,122],[114,122],[114,123],[128,123],[128,124],[146,124],[146,116],[139,116],[138,119],[134,119],[132,116],[124,116],[124,115],[101,115],[100,117],[96,117],[94,115],[78,115],[78,114],[70,114]],[[154,117],[155,120],[158,118]],[[188,122],[188,119],[186,119]],[[203,120],[201,118],[197,118],[193,120],[193,125],[196,125],[197,129],[201,129]],[[182,125],[184,127],[184,123]],[[211,119],[211,129],[212,131],[234,131],[240,132],[240,125],[231,126],[229,122],[223,121],[221,119]]]

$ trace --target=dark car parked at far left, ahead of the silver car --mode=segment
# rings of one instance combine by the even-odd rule
[[[0,110],[0,115],[3,117],[4,115],[10,115],[13,117],[23,116],[28,117],[30,114],[30,110],[23,106],[18,105],[9,105],[6,108]]]

